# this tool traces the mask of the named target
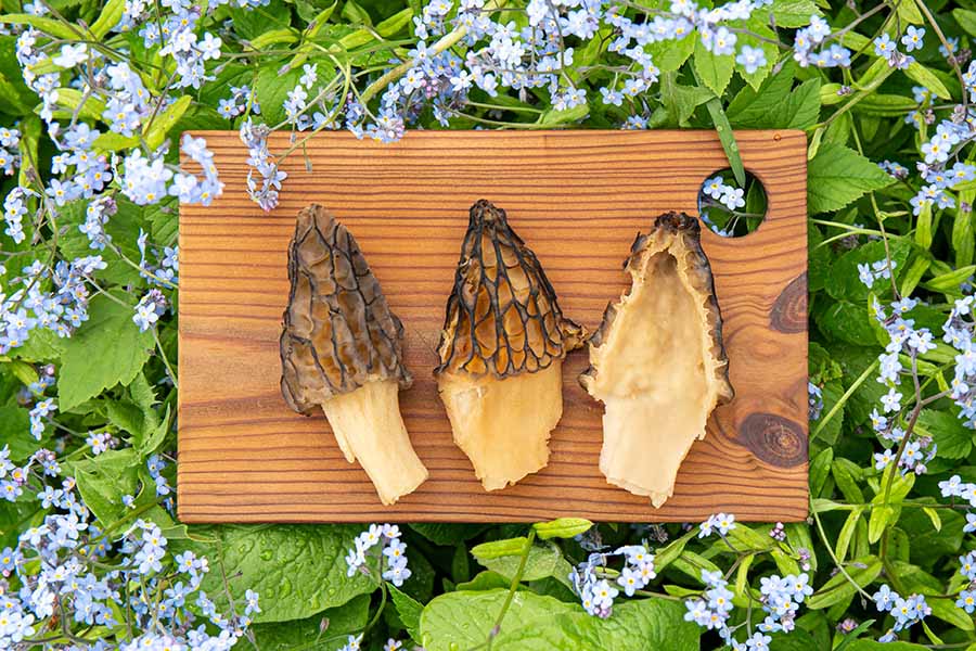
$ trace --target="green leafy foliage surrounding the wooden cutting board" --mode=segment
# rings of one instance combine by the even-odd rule
[[[942,184],[927,204],[917,197],[929,182],[923,176],[943,164],[948,168],[956,161],[971,162],[976,151],[967,146],[972,131],[953,143],[948,162],[926,158],[930,152],[924,149],[937,124],[954,116],[965,131],[972,119],[967,106],[972,79],[963,73],[967,43],[976,36],[976,8],[940,1],[775,0],[763,13],[770,20],[754,18],[743,27],[758,35],[753,38],[744,31],[743,40],[761,48],[768,58],[758,72],[716,54],[695,35],[672,38],[648,46],[658,68],[655,82],[620,105],[601,101],[598,92],[616,88],[620,65],[607,51],[612,35],[602,33],[580,40],[577,72],[567,73],[576,75],[570,79],[574,88],[588,90],[582,103],[560,100],[556,95],[564,88],[550,94],[539,88],[505,87],[497,97],[474,88],[464,102],[441,103],[438,112],[438,104],[427,101],[431,98],[404,99],[402,88],[396,97],[387,93],[381,99],[387,85],[404,74],[401,62],[416,55],[415,50],[411,53],[414,18],[425,22],[429,13],[416,0],[335,4],[271,0],[205,8],[201,25],[218,34],[223,48],[202,63],[214,78],[198,87],[179,85],[181,73],[167,67],[158,52],[165,39],[155,49],[146,48],[132,30],[114,29],[132,4],[53,0],[43,4],[44,15],[37,16],[31,14],[35,5],[21,7],[14,0],[4,1],[0,16],[8,25],[8,33],[0,35],[0,127],[20,131],[13,146],[20,164],[0,176],[0,195],[9,196],[16,187],[34,188],[41,195],[25,199],[29,210],[23,240],[16,241],[10,231],[0,234],[4,319],[16,314],[17,306],[11,303],[16,299],[15,288],[33,277],[23,269],[35,259],[48,269],[47,276],[38,271],[40,267],[35,269],[37,282],[51,291],[56,290],[52,275],[56,277],[57,260],[98,254],[105,263],[104,268],[84,270],[76,278],[88,288],[87,320],[70,327],[70,336],[36,328],[26,343],[7,345],[0,355],[0,437],[10,458],[0,478],[13,481],[14,465],[26,468],[29,475],[20,484],[26,488],[21,495],[0,500],[0,549],[25,546],[30,527],[44,523],[61,527],[63,522],[51,518],[75,507],[52,506],[36,495],[73,477],[76,486],[69,483],[64,488],[76,490],[87,507],[81,511],[90,511],[92,526],[81,532],[81,542],[69,548],[72,558],[78,560],[85,545],[104,541],[101,565],[92,565],[91,572],[110,576],[106,580],[123,591],[139,584],[142,575],[151,579],[143,588],[152,602],[154,595],[164,601],[171,597],[165,590],[177,580],[177,554],[191,550],[205,556],[210,572],[201,574],[200,588],[218,609],[240,614],[249,599],[247,590],[260,595],[259,611],[252,609],[247,621],[233,620],[232,637],[242,647],[348,648],[348,636],[364,631],[362,646],[372,649],[390,638],[408,646],[423,643],[432,651],[717,648],[722,640],[715,630],[684,617],[683,602],[705,589],[706,570],[721,572],[734,592],[729,625],[745,624],[749,631],[765,616],[761,579],[808,574],[814,590],[796,614],[795,629],[771,636],[773,649],[874,649],[879,644],[874,640],[897,620],[879,612],[871,599],[883,584],[903,596],[924,595],[930,608],[924,618],[910,622],[915,625],[906,626],[902,642],[889,648],[976,649],[973,609],[958,604],[961,591],[971,588],[971,577],[960,569],[960,557],[974,548],[967,535],[969,503],[964,495],[947,496],[939,486],[952,475],[963,484],[976,482],[972,422],[966,424],[960,405],[941,395],[958,373],[955,350],[938,342],[906,357],[906,382],[917,380],[920,399],[890,416],[902,425],[902,437],[886,439],[884,427],[872,423],[872,412],[881,409],[887,392],[875,381],[878,355],[891,341],[885,324],[873,316],[875,305],[889,309],[890,302],[915,296],[923,303],[911,310],[914,327],[929,329],[939,340],[954,302],[972,296],[976,183],[969,179]],[[175,3],[152,5],[163,11]],[[664,4],[643,5],[648,11],[659,7]],[[495,13],[489,15],[496,20]],[[825,16],[830,41],[852,54],[849,65],[818,67],[795,61],[796,28],[809,26],[811,15]],[[521,20],[517,12],[498,20],[509,18]],[[31,64],[34,72],[60,76],[59,84],[65,85],[56,97],[25,84],[25,66],[16,51],[28,25],[48,43],[44,56]],[[878,54],[873,41],[883,34],[898,41],[910,26],[926,28],[928,36],[913,52],[915,62],[902,69]],[[604,23],[601,28],[609,29]],[[950,39],[954,56],[939,51]],[[105,116],[105,99],[85,93],[84,78],[73,86],[74,73],[63,69],[70,66],[43,61],[59,51],[64,55],[60,49],[66,44],[82,42],[110,59],[121,52],[154,97],[172,101],[160,102],[154,117],[134,132],[119,131],[113,127],[115,119]],[[381,579],[378,562],[367,573],[347,572],[345,554],[362,527],[187,527],[176,522],[169,487],[178,463],[174,372],[179,294],[177,268],[167,247],[177,242],[177,197],[166,196],[165,186],[162,201],[146,201],[149,190],[127,194],[110,188],[114,213],[105,213],[103,227],[111,243],[93,251],[91,237],[79,230],[92,219],[88,206],[93,197],[60,202],[48,193],[49,199],[42,200],[57,176],[48,170],[61,149],[55,141],[63,137],[51,132],[50,123],[101,124],[94,148],[105,156],[105,168],[119,176],[118,166],[124,166],[120,179],[144,190],[155,181],[152,175],[128,175],[137,167],[130,157],[133,151],[150,154],[171,140],[163,161],[175,165],[180,132],[241,128],[244,113],[254,125],[296,126],[295,97],[290,92],[299,84],[304,63],[317,63],[320,74],[335,72],[339,81],[350,80],[361,102],[357,104],[338,84],[321,104],[309,102],[309,114],[335,110],[345,116],[345,126],[381,139],[398,137],[404,122],[431,128],[447,122],[461,129],[718,126],[725,135],[728,126],[805,129],[810,137],[810,379],[816,417],[810,520],[785,527],[737,523],[722,535],[704,538],[691,525],[602,524],[582,535],[578,534],[589,528],[587,523],[561,523],[555,525],[563,527],[560,531],[528,525],[404,525],[412,575],[400,588]],[[396,74],[389,76],[389,71]],[[172,75],[168,80],[167,74]],[[104,80],[95,82],[105,87]],[[244,85],[253,94],[231,90]],[[229,98],[230,118],[219,113],[221,100]],[[371,107],[375,119],[357,119],[352,115],[357,105]],[[445,106],[452,108],[445,113]],[[390,112],[384,113],[386,108]],[[318,118],[316,125],[321,126]],[[260,150],[259,135],[251,144]],[[734,148],[729,144],[735,169]],[[205,155],[201,158],[206,161]],[[903,167],[888,164],[886,171],[877,165],[883,161]],[[935,166],[916,169],[921,161]],[[256,199],[273,203],[268,166],[255,169]],[[731,177],[727,175],[729,182]],[[286,181],[282,191],[287,191]],[[198,187],[191,199],[202,200]],[[878,263],[881,267],[871,271],[870,266]],[[46,400],[52,401],[42,409]],[[924,472],[902,461],[906,445],[915,443],[924,444],[921,449],[927,455]],[[38,456],[39,448],[56,458],[54,472],[43,473],[41,461],[50,459],[47,452]],[[899,460],[887,471],[875,458],[886,448],[892,454],[900,448]],[[895,472],[899,467],[907,472]],[[129,503],[124,496],[131,498]],[[131,542],[142,531],[132,528],[138,519],[145,527],[158,526],[168,540],[163,570],[149,574],[131,570],[133,554],[144,551]],[[570,570],[586,563],[598,542],[614,549],[641,541],[656,550],[657,578],[633,599],[620,595],[609,617],[587,614],[567,578]],[[0,562],[5,577],[0,586],[8,599],[20,596],[27,603],[31,598],[48,558],[47,552],[37,553],[20,571]],[[27,584],[31,589],[25,592]],[[54,648],[84,648],[97,640],[125,647],[143,634],[178,637],[187,630],[187,615],[167,620],[140,614],[138,608],[132,612],[116,608],[115,622],[85,623],[70,621],[73,609],[80,608],[77,598],[63,591],[55,603],[57,613],[37,615],[26,640],[43,639],[38,643]],[[197,624],[203,622],[209,633],[221,629],[213,618],[206,622],[205,605],[188,600],[177,608],[183,612],[180,609],[191,617],[203,616]],[[35,646],[2,638],[2,626],[0,621],[0,639]]]

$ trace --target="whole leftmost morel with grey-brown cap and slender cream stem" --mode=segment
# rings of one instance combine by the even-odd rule
[[[281,333],[281,392],[309,416],[321,406],[346,460],[391,505],[427,478],[400,416],[403,324],[348,230],[325,208],[298,214]]]

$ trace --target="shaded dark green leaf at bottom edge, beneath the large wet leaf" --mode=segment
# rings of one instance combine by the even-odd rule
[[[261,610],[264,609],[265,601],[261,599]],[[360,595],[343,605],[330,608],[304,620],[255,624],[252,630],[257,648],[261,651],[295,649],[337,651],[346,644],[348,636],[356,635],[365,627],[369,614],[370,598],[368,595]]]

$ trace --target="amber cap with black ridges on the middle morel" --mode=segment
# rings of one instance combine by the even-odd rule
[[[536,372],[582,345],[582,329],[563,316],[542,266],[486,200],[471,207],[454,286],[448,298],[435,375],[503,379]]]

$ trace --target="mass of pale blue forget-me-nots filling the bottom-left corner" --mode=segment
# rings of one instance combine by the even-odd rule
[[[206,559],[191,551],[170,557],[166,536],[150,521],[137,520],[120,535],[101,529],[73,478],[56,487],[44,482],[60,471],[52,462],[53,454],[40,450],[18,469],[8,448],[0,451],[0,476],[11,473],[31,486],[51,510],[16,547],[0,550],[0,574],[13,582],[0,593],[0,647],[35,642],[34,636],[60,629],[61,621],[111,630],[121,625],[123,612],[146,631],[119,647],[126,650],[224,650],[245,635],[251,614],[260,612],[257,595],[248,591],[243,615],[220,613],[201,589]]]

